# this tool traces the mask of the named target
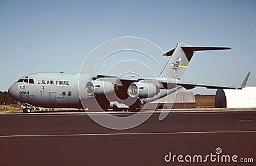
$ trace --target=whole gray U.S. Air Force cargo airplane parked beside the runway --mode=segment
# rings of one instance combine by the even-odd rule
[[[63,72],[31,73],[12,84],[8,92],[15,100],[37,107],[84,109],[85,105],[90,109],[95,105],[95,102],[92,102],[93,98],[103,110],[122,107],[140,110],[141,105],[175,93],[182,87],[185,89],[193,89],[197,86],[209,89],[242,89],[246,85],[250,72],[239,87],[189,84],[180,81],[195,52],[228,49],[230,47],[194,47],[186,43],[177,43],[175,49],[163,55],[168,57],[168,61],[156,78]],[[23,112],[31,112],[31,109],[24,109]]]

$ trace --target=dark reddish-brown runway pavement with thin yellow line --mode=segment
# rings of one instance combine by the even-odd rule
[[[0,114],[0,163],[244,165],[242,162],[246,161],[246,165],[253,165],[256,162],[255,122],[255,111],[170,112],[163,121],[159,121],[159,113],[154,113],[136,128],[111,130],[81,112]],[[168,161],[170,154],[172,160]],[[214,157],[210,160],[211,154],[215,155],[215,162]],[[202,156],[202,160],[198,156],[193,158],[195,155]],[[222,161],[223,155],[229,155],[230,161]],[[237,158],[233,161],[234,155]],[[183,158],[178,160],[178,156]]]

